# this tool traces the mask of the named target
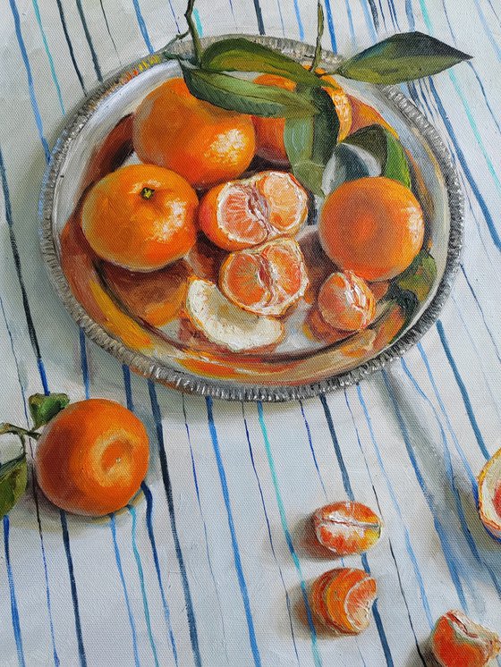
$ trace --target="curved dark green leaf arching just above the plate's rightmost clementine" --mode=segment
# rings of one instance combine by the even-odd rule
[[[382,125],[362,127],[344,139],[344,143],[369,151],[381,165],[383,176],[401,182],[406,188],[411,188],[411,172],[403,146]]]

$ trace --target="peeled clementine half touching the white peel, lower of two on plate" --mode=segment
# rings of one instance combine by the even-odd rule
[[[228,255],[221,266],[219,285],[240,308],[257,315],[280,316],[304,295],[308,274],[298,243],[276,239]]]

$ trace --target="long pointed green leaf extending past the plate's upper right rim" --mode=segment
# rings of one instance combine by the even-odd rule
[[[403,32],[369,46],[336,73],[369,83],[401,83],[437,74],[470,58],[422,32]]]

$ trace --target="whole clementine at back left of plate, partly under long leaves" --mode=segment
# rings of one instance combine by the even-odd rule
[[[250,165],[255,134],[250,116],[191,95],[183,79],[169,79],[134,114],[132,141],[143,162],[180,173],[197,188],[229,181]]]

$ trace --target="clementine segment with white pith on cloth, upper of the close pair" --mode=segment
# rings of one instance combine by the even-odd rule
[[[363,553],[381,536],[381,519],[361,502],[333,502],[313,514],[318,542],[338,556]]]

